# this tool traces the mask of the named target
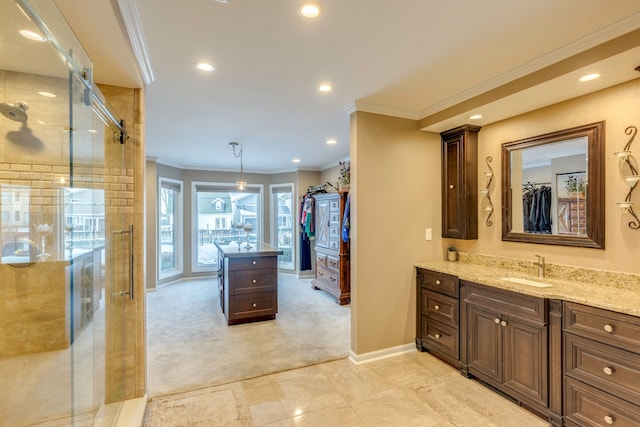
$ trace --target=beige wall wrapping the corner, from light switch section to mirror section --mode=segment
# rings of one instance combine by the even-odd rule
[[[441,239],[440,136],[417,131],[410,120],[354,113],[352,351],[364,354],[415,340],[413,263],[444,259],[451,244],[466,252],[532,260],[540,254],[550,263],[640,273],[640,231],[627,226],[630,217],[616,206],[624,200],[627,187],[613,155],[628,139],[624,129],[640,125],[638,100],[640,79],[485,126],[479,133],[478,182],[483,183],[486,156],[493,157],[492,167],[499,175],[501,144],[605,120],[604,250],[502,242],[499,176],[491,190],[496,206],[493,226],[484,223],[486,216],[480,211],[478,240]],[[631,148],[640,153],[640,146]],[[633,199],[640,202],[640,193]],[[433,227],[431,242],[424,240],[428,226]]]

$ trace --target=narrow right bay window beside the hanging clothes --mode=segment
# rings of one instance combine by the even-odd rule
[[[278,257],[278,267],[295,270],[295,239],[293,205],[293,184],[271,186],[271,244],[284,253]]]

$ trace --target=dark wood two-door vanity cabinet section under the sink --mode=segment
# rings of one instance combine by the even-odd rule
[[[549,300],[461,280],[460,301],[463,374],[559,420],[561,391],[550,378],[560,348],[550,339]]]

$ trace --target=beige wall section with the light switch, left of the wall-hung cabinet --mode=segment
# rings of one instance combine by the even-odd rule
[[[415,340],[413,264],[441,257],[440,136],[362,112],[351,132],[351,349],[363,354]]]

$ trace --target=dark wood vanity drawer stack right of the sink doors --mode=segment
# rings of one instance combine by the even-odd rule
[[[640,425],[640,318],[564,303],[567,426]]]

